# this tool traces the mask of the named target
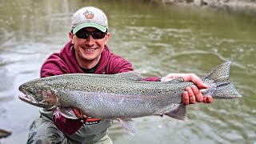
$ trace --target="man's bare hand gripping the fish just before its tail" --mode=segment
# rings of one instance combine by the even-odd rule
[[[202,82],[202,79],[195,74],[168,74],[161,79],[161,82],[168,82],[175,78],[183,78],[185,82],[194,82],[194,85],[186,87],[182,94],[182,103],[185,105],[194,104],[195,102],[213,102],[210,95],[202,96],[201,89],[207,89],[208,86]]]

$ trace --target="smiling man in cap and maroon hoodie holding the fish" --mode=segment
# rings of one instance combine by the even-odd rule
[[[51,54],[42,65],[42,78],[59,74],[117,74],[134,70],[130,62],[111,53],[106,46],[110,33],[102,10],[84,7],[74,14],[71,25],[70,42],[59,53]],[[198,89],[207,86],[194,74],[168,74],[163,78],[143,80],[166,82],[180,77],[195,84],[186,88],[182,95],[183,104],[212,102],[211,96],[202,97]],[[41,109],[40,113],[41,117],[30,126],[27,143],[112,143],[107,136],[111,120],[87,118],[76,109],[74,113],[78,120],[65,118],[58,110]]]

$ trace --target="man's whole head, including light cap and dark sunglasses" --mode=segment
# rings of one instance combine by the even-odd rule
[[[87,8],[74,14],[70,40],[79,66],[91,69],[98,64],[110,38],[107,29],[107,18],[101,10]]]

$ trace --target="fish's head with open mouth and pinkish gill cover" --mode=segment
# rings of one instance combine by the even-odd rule
[[[58,104],[55,90],[42,82],[26,82],[18,88],[23,94],[19,98],[34,106],[52,108]]]

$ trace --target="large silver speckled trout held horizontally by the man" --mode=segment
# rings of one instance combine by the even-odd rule
[[[213,98],[238,98],[241,95],[229,80],[230,62],[216,67],[203,82],[202,90]],[[120,74],[62,74],[26,82],[19,90],[25,102],[45,108],[57,107],[66,118],[75,117],[70,107],[91,118],[119,119],[122,126],[134,134],[131,118],[166,114],[186,119],[182,93],[193,82],[182,78],[170,82],[145,82],[136,72]]]

